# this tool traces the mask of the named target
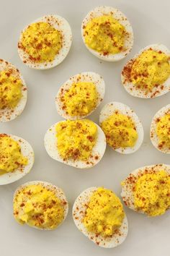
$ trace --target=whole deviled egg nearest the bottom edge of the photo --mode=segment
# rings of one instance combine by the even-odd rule
[[[117,247],[128,235],[128,220],[119,197],[103,187],[89,187],[76,198],[73,221],[100,247]]]

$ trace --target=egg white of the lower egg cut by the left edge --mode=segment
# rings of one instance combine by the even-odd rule
[[[17,168],[14,171],[6,172],[6,174],[0,175],[0,185],[9,184],[12,182],[16,182],[21,179],[23,176],[28,174],[34,163],[34,151],[30,143],[27,140],[22,139],[21,137],[17,137],[16,135],[8,135],[13,140],[16,140],[21,147],[21,153],[28,159],[28,163],[26,166],[22,166],[22,168]]]

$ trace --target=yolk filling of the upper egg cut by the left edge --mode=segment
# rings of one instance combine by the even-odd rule
[[[22,98],[22,80],[8,71],[0,72],[0,109],[14,108]]]

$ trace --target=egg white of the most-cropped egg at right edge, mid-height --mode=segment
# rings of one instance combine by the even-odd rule
[[[153,146],[157,150],[159,150],[163,153],[166,153],[166,154],[170,154],[170,149],[164,148],[164,147],[163,148],[158,148],[159,139],[158,139],[158,136],[156,135],[156,125],[157,125],[156,119],[161,118],[162,116],[164,116],[168,112],[170,113],[170,104],[164,106],[164,108],[161,108],[155,114],[155,116],[153,116],[153,119],[151,121],[151,129],[150,129],[150,137],[151,137],[151,142],[152,142]]]

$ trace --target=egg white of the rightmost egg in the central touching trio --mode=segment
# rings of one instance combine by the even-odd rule
[[[120,114],[124,114],[124,115],[128,115],[131,117],[131,119],[133,120],[133,122],[135,123],[135,127],[136,127],[136,131],[138,133],[138,140],[135,142],[135,145],[133,148],[112,148],[113,150],[115,150],[118,153],[122,153],[122,154],[130,154],[130,153],[134,153],[136,150],[138,150],[140,148],[140,146],[143,143],[143,137],[144,137],[144,131],[143,131],[143,125],[140,121],[140,119],[138,118],[137,114],[135,114],[135,112],[127,105],[120,103],[120,102],[116,102],[116,101],[112,101],[110,103],[107,103],[103,108],[102,111],[100,112],[99,115],[99,124],[102,124],[102,121],[104,121],[105,119],[107,119],[109,116],[112,116],[112,114],[114,114],[115,111],[120,111]]]

